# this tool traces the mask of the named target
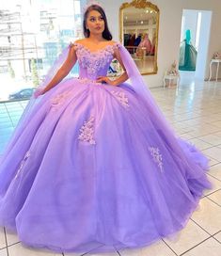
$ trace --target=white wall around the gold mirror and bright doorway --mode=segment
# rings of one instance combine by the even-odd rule
[[[119,40],[118,13],[119,7],[127,0],[100,0],[103,5],[114,40]],[[208,77],[209,64],[213,52],[221,50],[221,3],[220,0],[151,0],[160,9],[160,25],[158,39],[158,72],[145,75],[144,79],[150,88],[162,86],[164,72],[176,60],[178,63],[181,40],[182,10],[212,10],[211,39],[205,78]]]

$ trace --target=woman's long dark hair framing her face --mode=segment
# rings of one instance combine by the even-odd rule
[[[91,5],[87,8],[85,14],[84,14],[84,21],[83,21],[83,29],[84,29],[84,35],[86,38],[89,37],[89,29],[87,29],[87,26],[86,26],[86,21],[87,21],[87,15],[88,13],[91,11],[91,10],[97,10],[98,12],[101,13],[101,15],[103,16],[103,21],[104,21],[104,30],[103,30],[103,39],[105,40],[112,40],[112,35],[109,31],[109,28],[108,28],[108,24],[107,24],[107,20],[106,20],[106,15],[105,15],[105,12],[103,10],[103,8],[101,8],[100,6],[98,5]]]

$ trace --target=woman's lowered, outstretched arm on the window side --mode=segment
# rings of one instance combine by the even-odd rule
[[[71,72],[72,67],[77,61],[76,51],[74,49],[74,45],[71,44],[71,48],[69,51],[69,55],[67,59],[65,60],[64,64],[61,66],[61,68],[55,73],[55,76],[50,81],[50,83],[47,85],[46,88],[44,88],[41,92],[41,94],[45,93],[51,88],[54,88],[62,79]]]

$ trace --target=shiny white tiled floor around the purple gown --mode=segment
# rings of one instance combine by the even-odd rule
[[[173,239],[158,241],[147,248],[124,249],[104,254],[86,252],[84,255],[221,256],[221,83],[187,83],[181,86],[178,93],[176,88],[153,88],[151,92],[178,135],[195,144],[211,159],[208,177],[213,183],[213,189],[205,191],[197,211],[186,228]],[[3,150],[24,105],[25,103],[22,102],[0,104],[0,150]],[[12,115],[17,106],[19,112]],[[5,120],[5,125],[1,123],[2,119]],[[4,131],[4,136],[1,131]],[[0,256],[7,255],[62,254],[25,248],[16,235],[0,229]],[[80,254],[63,255],[79,256]]]

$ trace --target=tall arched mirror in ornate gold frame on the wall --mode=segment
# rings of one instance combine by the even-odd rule
[[[146,0],[123,3],[119,8],[119,40],[141,74],[157,73],[159,8]]]

